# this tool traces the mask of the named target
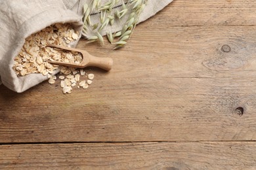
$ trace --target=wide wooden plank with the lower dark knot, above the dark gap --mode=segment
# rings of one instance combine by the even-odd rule
[[[0,141],[255,140],[255,81],[122,78],[115,83],[123,82],[121,88],[111,82],[100,88],[106,81],[98,80],[91,90],[72,95],[60,95],[48,84],[41,92],[12,94],[18,99],[1,107]],[[238,107],[243,116],[236,114]]]

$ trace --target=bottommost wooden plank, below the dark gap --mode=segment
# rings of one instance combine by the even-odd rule
[[[253,143],[0,146],[0,169],[256,169]]]

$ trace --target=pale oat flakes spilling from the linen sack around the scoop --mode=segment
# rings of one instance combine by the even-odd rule
[[[25,76],[32,73],[41,73],[49,78],[49,83],[54,84],[57,77],[53,71],[60,69],[60,86],[63,93],[71,93],[72,88],[88,88],[95,75],[87,74],[83,69],[53,65],[48,61],[64,61],[80,63],[82,56],[79,52],[67,52],[56,48],[47,47],[47,44],[70,46],[79,36],[71,24],[54,24],[34,33],[26,39],[22,50],[14,58],[12,67],[17,76]]]

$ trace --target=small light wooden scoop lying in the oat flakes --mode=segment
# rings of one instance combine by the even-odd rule
[[[54,45],[54,44],[49,44],[47,46],[53,47],[53,48],[60,48],[62,50],[80,52],[83,56],[83,60],[79,64],[77,64],[77,63],[66,63],[66,62],[62,62],[62,61],[49,61],[49,63],[52,63],[52,64],[64,65],[64,66],[67,66],[67,67],[77,67],[77,68],[81,68],[81,69],[84,68],[84,67],[87,67],[87,66],[93,66],[93,67],[100,67],[101,69],[104,69],[106,71],[110,71],[110,69],[112,68],[112,65],[113,65],[113,59],[112,58],[97,58],[95,56],[92,56],[91,54],[89,54],[85,50],[79,50],[79,49],[76,49],[76,48],[69,48],[69,47],[66,47],[66,46],[58,46],[58,45]]]

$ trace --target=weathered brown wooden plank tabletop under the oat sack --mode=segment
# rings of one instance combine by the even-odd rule
[[[256,169],[256,1],[175,0],[110,73],[63,95],[0,86],[0,169]]]

